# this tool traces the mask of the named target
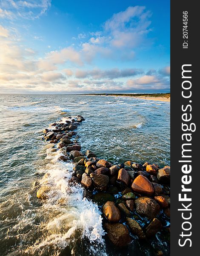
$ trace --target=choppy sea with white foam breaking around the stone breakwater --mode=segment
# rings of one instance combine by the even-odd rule
[[[49,123],[80,114],[83,151],[113,163],[169,165],[169,111],[169,102],[131,97],[0,95],[0,255],[122,255],[105,245],[97,205],[69,187],[72,164],[58,163],[40,137]],[[46,172],[51,197],[41,204],[33,184]]]

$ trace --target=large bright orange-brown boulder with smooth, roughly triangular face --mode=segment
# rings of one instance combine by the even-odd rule
[[[131,188],[134,192],[139,194],[153,195],[154,193],[154,187],[152,186],[151,182],[143,175],[139,175],[134,179]]]

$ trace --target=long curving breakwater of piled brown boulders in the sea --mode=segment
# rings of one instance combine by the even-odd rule
[[[57,161],[74,165],[69,189],[70,184],[83,186],[83,198],[98,204],[106,236],[117,247],[127,246],[135,236],[143,241],[158,232],[169,237],[170,166],[131,160],[113,164],[90,150],[82,152],[75,130],[84,120],[80,115],[64,117],[43,131],[49,150],[59,152]],[[50,190],[48,182],[40,183],[37,198],[47,200]],[[66,204],[63,198],[58,201]]]

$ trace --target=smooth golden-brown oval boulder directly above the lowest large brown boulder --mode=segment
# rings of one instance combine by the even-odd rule
[[[119,209],[115,206],[114,202],[107,201],[103,205],[103,214],[106,216],[110,222],[119,222],[121,215]]]

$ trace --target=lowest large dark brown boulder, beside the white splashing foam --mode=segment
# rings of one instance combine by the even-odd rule
[[[111,242],[118,246],[127,246],[131,241],[128,228],[120,223],[106,223],[106,231]]]

